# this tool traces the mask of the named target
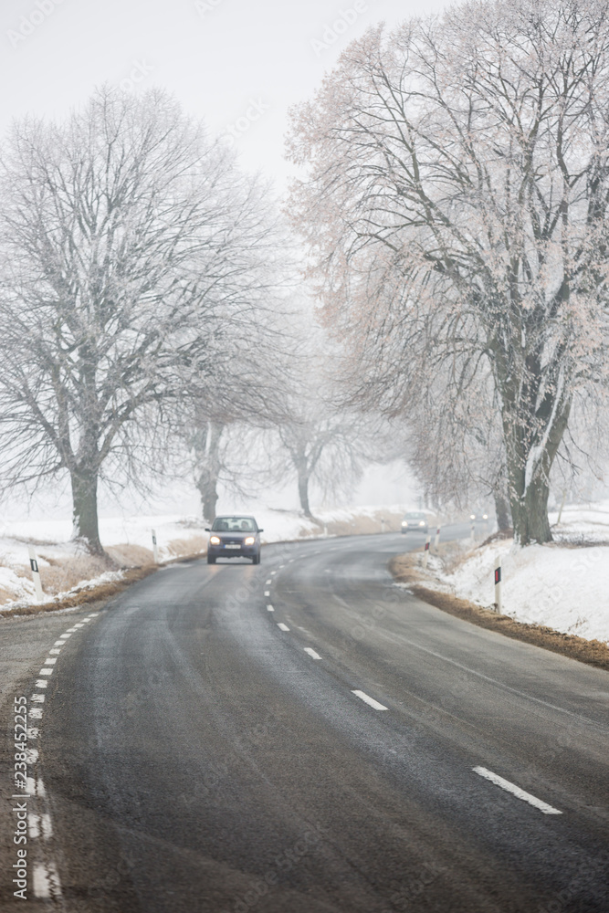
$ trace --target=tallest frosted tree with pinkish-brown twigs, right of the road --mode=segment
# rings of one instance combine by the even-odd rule
[[[404,415],[434,365],[478,360],[522,544],[551,539],[574,391],[606,381],[608,16],[486,0],[373,28],[293,118],[291,210],[354,398]]]

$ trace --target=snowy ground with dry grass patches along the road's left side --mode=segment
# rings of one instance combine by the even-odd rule
[[[319,523],[304,519],[295,510],[270,509],[255,505],[243,511],[254,514],[264,530],[263,542],[307,539],[340,531],[381,530],[380,516],[388,521],[400,518],[403,505],[354,507],[323,510]],[[339,529],[340,527],[340,529]],[[181,555],[204,553],[207,533],[201,519],[177,514],[134,515],[100,518],[100,539],[110,556],[120,564],[134,565],[152,561],[152,530],[155,530],[160,561]],[[16,609],[36,602],[29,571],[28,545],[34,544],[45,593],[60,599],[84,586],[121,577],[121,571],[107,571],[100,562],[83,554],[69,540],[68,519],[10,519],[0,522],[0,605]]]

